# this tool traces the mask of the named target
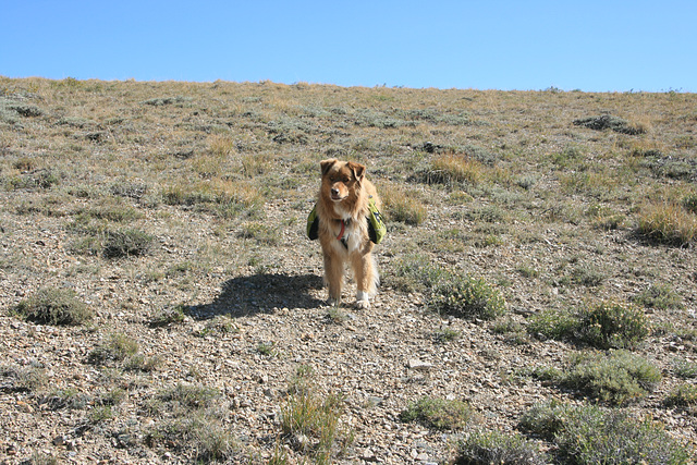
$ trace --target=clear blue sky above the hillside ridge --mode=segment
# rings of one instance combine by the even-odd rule
[[[2,0],[0,75],[697,91],[697,0]]]

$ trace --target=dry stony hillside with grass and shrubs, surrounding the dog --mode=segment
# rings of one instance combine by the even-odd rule
[[[369,311],[304,234],[332,157],[384,200]],[[0,198],[9,463],[697,440],[693,94],[0,77]]]

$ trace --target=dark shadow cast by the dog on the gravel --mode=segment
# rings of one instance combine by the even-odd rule
[[[197,320],[218,315],[242,317],[271,314],[278,308],[314,308],[323,301],[310,291],[322,289],[322,278],[316,274],[261,273],[225,281],[220,295],[210,304],[195,305],[187,314]]]

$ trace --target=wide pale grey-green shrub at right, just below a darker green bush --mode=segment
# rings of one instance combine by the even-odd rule
[[[580,354],[571,358],[555,381],[611,405],[637,402],[661,380],[660,370],[631,352]]]

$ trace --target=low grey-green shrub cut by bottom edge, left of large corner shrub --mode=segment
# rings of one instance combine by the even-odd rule
[[[474,430],[456,443],[456,465],[545,465],[549,457],[521,435]]]

